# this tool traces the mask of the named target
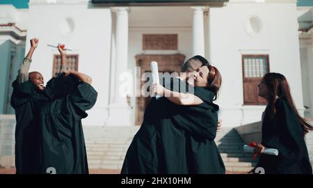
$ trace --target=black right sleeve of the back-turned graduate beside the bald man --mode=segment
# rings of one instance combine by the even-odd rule
[[[75,118],[86,118],[87,110],[91,109],[97,100],[97,91],[86,82],[81,81],[77,90],[67,99],[70,111]]]

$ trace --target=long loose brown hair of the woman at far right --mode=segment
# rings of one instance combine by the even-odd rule
[[[291,96],[288,81],[284,75],[270,72],[264,75],[263,81],[268,88],[268,105],[266,107],[266,113],[270,114],[271,118],[273,118],[276,113],[275,101],[276,96],[278,96],[281,100],[286,101],[289,107],[294,110],[305,134],[309,132],[309,130],[313,130],[312,125],[310,125],[305,118],[302,118],[296,109],[296,105],[294,104],[294,100]]]

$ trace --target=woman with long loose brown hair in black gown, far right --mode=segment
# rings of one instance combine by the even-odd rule
[[[264,75],[259,96],[268,102],[262,123],[261,153],[257,167],[266,174],[312,174],[304,136],[312,125],[302,118],[291,97],[287,79],[279,73]],[[278,156],[262,155],[264,148],[278,149]]]

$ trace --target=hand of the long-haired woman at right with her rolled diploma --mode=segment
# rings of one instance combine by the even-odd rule
[[[255,159],[259,153],[266,155],[278,155],[278,150],[274,148],[266,148],[262,144],[255,143],[254,141],[249,143],[248,145],[243,146],[244,152],[254,153],[253,158]]]

